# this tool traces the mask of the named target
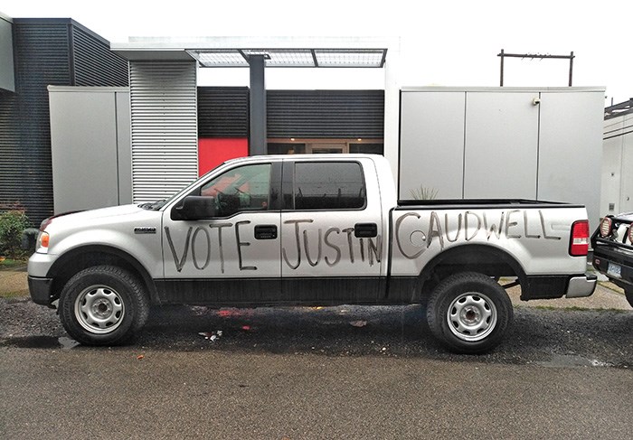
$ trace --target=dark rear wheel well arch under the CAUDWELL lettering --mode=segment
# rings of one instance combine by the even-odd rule
[[[486,245],[462,245],[441,252],[420,273],[421,293],[429,295],[447,276],[477,272],[491,277],[516,276],[523,284],[523,267],[502,249]]]

